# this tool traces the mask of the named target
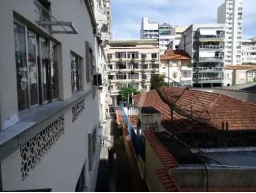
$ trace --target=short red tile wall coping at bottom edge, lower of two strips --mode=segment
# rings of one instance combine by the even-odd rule
[[[180,186],[173,180],[166,168],[157,169],[157,174],[166,191],[181,191]]]

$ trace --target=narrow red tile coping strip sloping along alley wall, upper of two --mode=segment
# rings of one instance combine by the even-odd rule
[[[157,136],[151,130],[143,131],[149,143],[153,147],[153,150],[157,153],[161,162],[165,165],[166,168],[174,168],[178,165],[178,162],[174,157],[169,153],[163,144],[159,141]]]

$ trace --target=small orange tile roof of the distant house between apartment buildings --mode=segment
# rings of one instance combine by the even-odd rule
[[[166,50],[165,55],[161,55],[162,60],[190,60],[191,57],[183,50]]]

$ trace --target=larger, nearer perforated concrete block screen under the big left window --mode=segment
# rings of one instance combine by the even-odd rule
[[[20,147],[22,180],[28,176],[63,134],[64,116],[62,115]]]

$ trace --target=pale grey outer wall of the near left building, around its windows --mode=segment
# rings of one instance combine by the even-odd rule
[[[10,127],[1,132],[1,144],[7,134],[14,133],[14,130],[17,131],[16,136],[3,144],[4,153],[8,156],[1,160],[2,186],[3,190],[52,188],[53,191],[74,191],[82,167],[86,163],[86,186],[93,191],[97,178],[100,148],[99,140],[96,139],[96,151],[92,156],[92,170],[89,171],[88,134],[92,134],[95,128],[98,130],[100,99],[98,88],[94,88],[92,91],[92,83],[86,81],[86,41],[92,45],[93,55],[96,57],[96,38],[93,35],[91,17],[85,1],[55,0],[50,2],[53,16],[58,21],[73,22],[79,34],[49,34],[36,23],[37,13],[34,0],[1,2],[0,24],[4,28],[0,30],[0,42],[5,45],[1,47],[2,54],[0,56],[0,81],[4,83],[0,86],[1,130],[7,128],[6,120],[11,119],[8,123],[12,123],[8,124]],[[63,101],[57,100],[33,110],[18,112],[14,20],[28,25],[41,37],[59,43],[58,86],[59,98]],[[82,58],[84,91],[76,93],[79,97],[71,92],[71,51]],[[76,102],[79,102],[78,100],[82,99],[84,99],[84,110],[73,122],[72,108]],[[63,107],[59,108],[59,106]],[[35,112],[35,115],[31,115],[32,112]],[[38,134],[37,131],[51,125],[61,115],[64,115],[65,133],[59,137],[56,144],[47,151],[35,168],[30,170],[28,177],[22,180],[20,146],[35,137]],[[19,118],[21,120],[19,124],[14,125]],[[22,127],[28,122],[33,126]],[[98,131],[96,136],[98,136]],[[14,142],[16,149],[9,153],[14,148]],[[3,151],[3,145],[0,146],[1,151]]]

